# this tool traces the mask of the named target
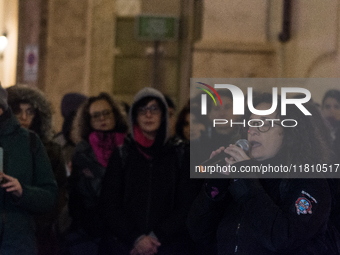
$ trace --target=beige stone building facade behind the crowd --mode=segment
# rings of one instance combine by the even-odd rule
[[[289,2],[290,38],[282,42]],[[340,0],[25,0],[18,8],[19,24],[32,24],[19,26],[16,80],[25,83],[26,45],[38,45],[32,85],[45,91],[57,113],[67,92],[107,91],[131,102],[152,85],[154,43],[135,38],[139,14],[179,19],[178,39],[160,42],[157,66],[158,88],[179,106],[190,77],[339,76]],[[320,101],[325,88],[309,89]]]

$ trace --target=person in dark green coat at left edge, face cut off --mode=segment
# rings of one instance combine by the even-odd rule
[[[15,110],[18,114],[18,108]],[[26,109],[23,114],[34,113],[33,109]],[[41,140],[21,126],[8,107],[7,91],[0,85],[0,144],[3,149],[0,253],[6,255],[37,254],[34,215],[50,212],[58,197],[57,183]]]

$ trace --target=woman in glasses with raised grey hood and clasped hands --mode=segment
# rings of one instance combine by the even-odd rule
[[[168,106],[153,88],[130,109],[131,136],[112,154],[101,205],[108,254],[190,254],[185,219],[190,206],[189,154],[169,140]]]

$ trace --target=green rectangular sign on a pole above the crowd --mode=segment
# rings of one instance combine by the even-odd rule
[[[136,37],[148,41],[171,41],[178,36],[178,18],[172,16],[139,15],[135,21]]]

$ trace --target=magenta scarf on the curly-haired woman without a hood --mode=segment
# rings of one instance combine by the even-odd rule
[[[89,136],[89,142],[98,162],[107,167],[109,158],[115,148],[124,143],[125,133],[93,131]]]

